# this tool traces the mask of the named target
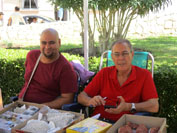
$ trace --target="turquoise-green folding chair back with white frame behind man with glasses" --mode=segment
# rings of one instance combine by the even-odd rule
[[[107,54],[107,62],[106,62],[106,66],[114,66],[114,62],[112,60],[111,57],[111,50],[107,50],[105,52],[103,52],[103,54],[101,55],[101,60],[100,60],[100,66],[99,66],[99,70],[102,69],[103,67],[103,59],[104,56]],[[149,52],[144,52],[144,51],[135,51],[134,52],[134,57],[132,60],[132,64],[144,69],[148,69],[148,60],[151,60],[151,73],[152,73],[152,77],[154,74],[154,57],[151,53]]]

